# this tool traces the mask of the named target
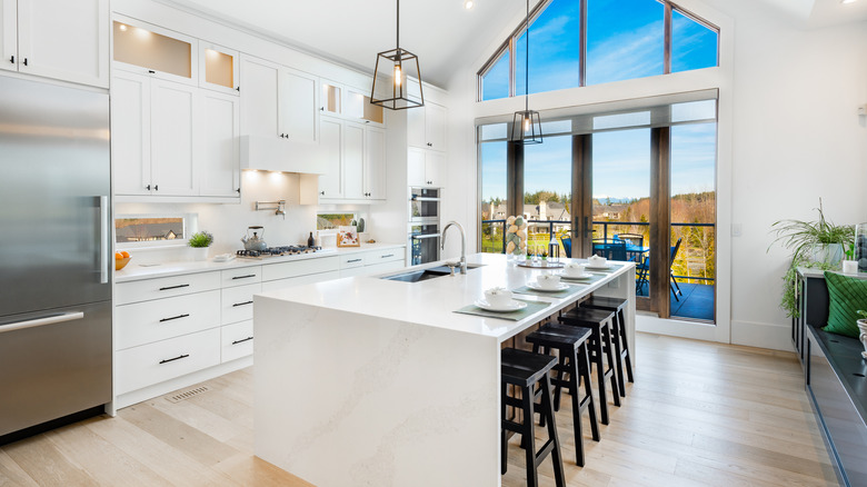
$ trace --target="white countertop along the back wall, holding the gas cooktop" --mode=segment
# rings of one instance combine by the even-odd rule
[[[136,262],[136,252],[132,251],[132,260],[121,270],[114,271],[114,282],[129,282],[141,279],[155,279],[159,277],[179,276],[186,274],[209,272],[212,270],[237,269],[239,267],[262,266],[270,264],[291,262],[296,260],[320,259],[325,257],[343,256],[372,250],[403,248],[403,244],[361,244],[360,247],[343,247],[338,249],[323,249],[313,254],[297,256],[268,257],[263,259],[236,258],[228,262],[215,262],[213,256],[205,261],[166,261],[148,262],[156,265],[141,265]]]

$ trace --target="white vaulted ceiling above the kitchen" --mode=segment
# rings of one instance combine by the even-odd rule
[[[363,71],[376,53],[395,48],[395,0],[163,0],[225,19]],[[530,0],[535,4],[538,0]],[[704,0],[736,21],[764,14],[796,28],[867,20],[867,0]],[[416,53],[426,81],[445,87],[457,69],[485,54],[525,10],[524,0],[403,0],[400,46]]]

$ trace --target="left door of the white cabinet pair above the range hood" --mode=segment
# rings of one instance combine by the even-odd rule
[[[280,133],[278,92],[280,67],[241,54],[241,133],[277,137]]]

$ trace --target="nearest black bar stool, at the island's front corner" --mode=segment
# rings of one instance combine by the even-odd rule
[[[557,426],[554,421],[554,406],[551,405],[551,382],[548,372],[557,364],[557,359],[547,355],[532,354],[530,351],[506,348],[500,352],[500,386],[502,398],[500,400],[500,414],[502,417],[500,438],[502,467],[506,474],[508,466],[508,440],[506,431],[515,431],[521,435],[521,447],[527,454],[527,486],[539,485],[537,467],[548,454],[554,461],[554,478],[557,487],[565,487],[562,471],[562,458],[560,457],[560,440],[557,437]],[[539,385],[537,388],[536,385]],[[508,385],[512,385],[516,391],[520,391],[520,399],[508,395]],[[541,399],[538,413],[548,424],[548,441],[536,451],[536,436],[534,433],[534,413],[536,400]],[[506,406],[512,406],[524,411],[521,423],[506,418]]]

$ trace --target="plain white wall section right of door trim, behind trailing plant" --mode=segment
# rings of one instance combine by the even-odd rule
[[[737,19],[731,221],[731,341],[788,349],[777,306],[788,251],[779,219],[867,221],[867,23],[800,31],[770,19]]]

